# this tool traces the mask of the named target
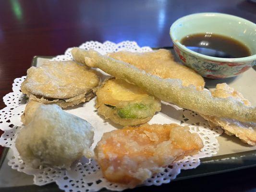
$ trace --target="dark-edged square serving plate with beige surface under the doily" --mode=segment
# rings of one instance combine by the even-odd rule
[[[167,47],[166,49],[171,50],[175,55],[173,48]],[[44,61],[51,58],[53,57],[35,56],[32,60],[32,66],[40,66]],[[256,86],[254,84],[256,82],[256,68],[251,68],[237,77],[219,80],[205,79],[205,81],[206,88],[213,88],[216,84],[225,82],[243,93],[244,97],[251,101],[253,106],[256,106]],[[219,152],[215,156],[202,158],[201,164],[195,169],[182,170],[175,180],[185,180],[256,166],[256,146],[249,146],[237,137],[224,133],[217,138]],[[41,187],[33,185],[32,176],[13,170],[8,166],[8,156],[11,156],[11,154],[8,152],[8,148],[5,148],[0,158],[0,191],[61,191],[55,183]]]

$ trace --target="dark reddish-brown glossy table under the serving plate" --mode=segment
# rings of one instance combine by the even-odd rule
[[[196,12],[229,13],[256,23],[256,3],[246,0],[0,0],[0,98],[12,91],[15,77],[26,74],[35,55],[63,54],[88,40],[171,46],[171,24]],[[253,192],[255,172],[250,168],[144,189]]]

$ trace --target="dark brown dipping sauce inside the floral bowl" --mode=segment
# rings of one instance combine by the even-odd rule
[[[250,49],[240,41],[218,34],[192,34],[185,36],[181,44],[192,51],[219,58],[241,58],[251,56]]]

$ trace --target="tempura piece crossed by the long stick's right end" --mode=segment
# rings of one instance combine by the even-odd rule
[[[246,106],[251,106],[251,103],[245,99],[241,93],[234,91],[233,88],[225,83],[217,84],[216,88],[211,90],[211,93],[213,96],[220,98],[232,97],[235,100],[244,103]],[[238,120],[218,118],[202,114],[201,116],[209,121],[211,127],[220,126],[224,129],[226,134],[235,135],[247,144],[256,145],[256,123],[241,122]]]

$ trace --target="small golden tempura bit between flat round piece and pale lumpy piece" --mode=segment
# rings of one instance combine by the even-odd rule
[[[33,100],[28,101],[28,103],[26,104],[24,113],[21,116],[21,121],[23,122],[24,125],[27,125],[28,123],[30,123],[31,120],[33,120],[35,112],[40,105],[44,105],[44,104],[39,103],[37,101],[33,101]]]

